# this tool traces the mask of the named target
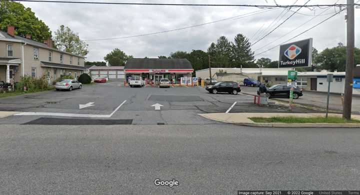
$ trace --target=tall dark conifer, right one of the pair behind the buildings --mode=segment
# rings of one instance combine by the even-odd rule
[[[256,67],[251,44],[243,34],[236,34],[231,43],[231,61],[233,67]]]

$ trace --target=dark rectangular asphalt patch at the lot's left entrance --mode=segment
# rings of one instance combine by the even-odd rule
[[[47,125],[93,125],[93,124],[131,124],[132,119],[82,119],[82,118],[50,118],[41,117],[23,124]]]

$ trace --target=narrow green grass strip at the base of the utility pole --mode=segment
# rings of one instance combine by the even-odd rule
[[[250,120],[254,122],[281,122],[281,123],[360,123],[360,120],[351,119],[346,120],[341,117],[250,117]]]

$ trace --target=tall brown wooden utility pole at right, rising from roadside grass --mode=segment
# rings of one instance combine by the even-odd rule
[[[354,0],[347,0],[346,6],[346,68],[342,117],[351,119],[352,78],[354,66]]]

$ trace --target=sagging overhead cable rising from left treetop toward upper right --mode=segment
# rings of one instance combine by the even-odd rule
[[[130,36],[120,36],[120,37],[112,37],[112,38],[88,39],[88,40],[84,40],[84,41],[123,39],[123,38],[132,38],[132,37],[138,37],[138,36],[147,36],[147,35],[159,34],[159,33],[164,33],[164,32],[177,31],[177,30],[182,30],[182,29],[187,29],[187,28],[192,28],[192,27],[198,27],[198,26],[202,26],[202,25],[206,25],[206,24],[210,24],[210,23],[216,23],[216,22],[220,22],[220,21],[224,21],[224,20],[228,20],[228,19],[244,18],[244,17],[248,17],[248,16],[251,16],[251,15],[256,15],[256,14],[260,14],[260,13],[263,13],[263,12],[267,12],[267,11],[270,11],[270,10],[273,10],[273,9],[276,9],[276,8],[252,11],[252,12],[249,12],[249,13],[244,13],[244,14],[241,14],[241,15],[227,17],[227,18],[223,18],[223,19],[219,19],[219,20],[215,20],[215,21],[210,21],[210,22],[206,22],[206,23],[200,23],[200,24],[186,26],[186,27],[174,28],[174,29],[169,29],[169,30],[163,30],[163,31],[158,31],[158,32],[150,32],[150,33],[144,33],[144,34],[137,34],[137,35],[130,35]]]

